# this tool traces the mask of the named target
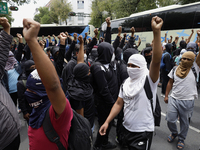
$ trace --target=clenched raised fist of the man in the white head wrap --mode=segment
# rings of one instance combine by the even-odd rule
[[[160,17],[155,16],[152,18],[151,28],[154,33],[160,32],[162,25],[163,25],[163,20]]]

